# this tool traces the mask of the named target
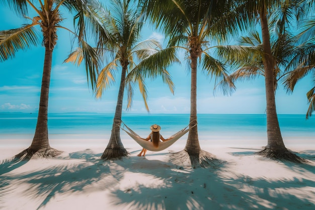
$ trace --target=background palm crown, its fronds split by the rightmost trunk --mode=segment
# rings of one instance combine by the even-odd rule
[[[274,84],[275,91],[278,82],[287,74],[285,69],[292,58],[295,47],[295,39],[291,34],[278,34],[271,42],[271,51],[275,58]],[[233,82],[252,80],[256,77],[265,77],[263,65],[262,41],[258,31],[249,32],[249,36],[241,36],[237,39],[237,45],[217,47],[217,53],[235,69],[230,78]]]

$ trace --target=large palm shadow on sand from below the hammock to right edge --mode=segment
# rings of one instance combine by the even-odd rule
[[[139,167],[120,166],[126,173],[144,174],[156,184],[139,179],[129,188],[112,191],[112,205],[117,209],[315,209],[311,179],[253,179],[235,174],[228,164],[216,169],[184,169],[158,160],[140,161]],[[149,170],[143,168],[145,161]]]

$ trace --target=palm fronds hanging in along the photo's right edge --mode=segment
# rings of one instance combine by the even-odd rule
[[[315,19],[313,16],[314,9],[313,1],[302,1],[302,7],[306,11],[306,17],[303,17],[301,23],[302,31],[297,35],[299,46],[297,46],[296,54],[292,59],[289,67],[294,69],[286,77],[284,82],[288,91],[293,91],[296,83],[306,75],[313,73],[315,69]],[[313,79],[315,81],[315,79]],[[315,84],[307,93],[306,97],[309,103],[306,111],[306,119],[315,111]]]

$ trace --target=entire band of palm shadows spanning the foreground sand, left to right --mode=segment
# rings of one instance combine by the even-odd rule
[[[53,168],[4,175],[0,203],[10,193],[10,182],[16,182],[27,184],[19,193],[36,201],[37,209],[75,192],[98,191],[106,192],[106,205],[116,210],[315,209],[313,178],[253,179],[236,174],[229,164],[191,169],[137,156],[104,162],[101,155],[70,153]]]

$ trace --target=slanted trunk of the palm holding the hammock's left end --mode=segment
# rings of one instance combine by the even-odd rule
[[[117,98],[117,105],[115,116],[113,120],[113,127],[111,137],[109,139],[109,143],[102,155],[102,159],[104,160],[111,160],[122,158],[128,155],[127,150],[124,148],[121,138],[120,138],[120,124],[121,124],[121,113],[122,113],[122,103],[124,97],[124,90],[125,90],[125,78],[126,78],[126,71],[127,67],[122,65],[122,72],[121,72],[121,80]]]

